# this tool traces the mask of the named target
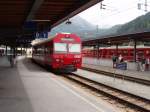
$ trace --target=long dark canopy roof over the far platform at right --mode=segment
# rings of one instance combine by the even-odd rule
[[[150,42],[150,32],[134,32],[130,34],[112,35],[83,40],[83,46],[95,46],[98,44],[119,45],[124,42],[143,41]]]

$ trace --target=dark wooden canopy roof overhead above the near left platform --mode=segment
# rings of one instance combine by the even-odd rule
[[[0,43],[20,45],[102,0],[0,0]]]

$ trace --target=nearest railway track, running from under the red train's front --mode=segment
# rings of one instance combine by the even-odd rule
[[[149,99],[101,84],[77,74],[64,75],[64,77],[89,89],[91,92],[95,92],[98,95],[103,95],[110,100],[114,100],[125,108],[130,108],[135,112],[150,112]]]

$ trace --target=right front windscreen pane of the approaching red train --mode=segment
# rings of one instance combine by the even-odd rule
[[[80,53],[81,52],[81,47],[80,44],[69,44],[69,52],[71,53]]]

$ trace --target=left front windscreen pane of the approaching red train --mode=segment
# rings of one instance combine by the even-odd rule
[[[54,51],[55,52],[67,52],[67,44],[66,43],[54,43]]]

